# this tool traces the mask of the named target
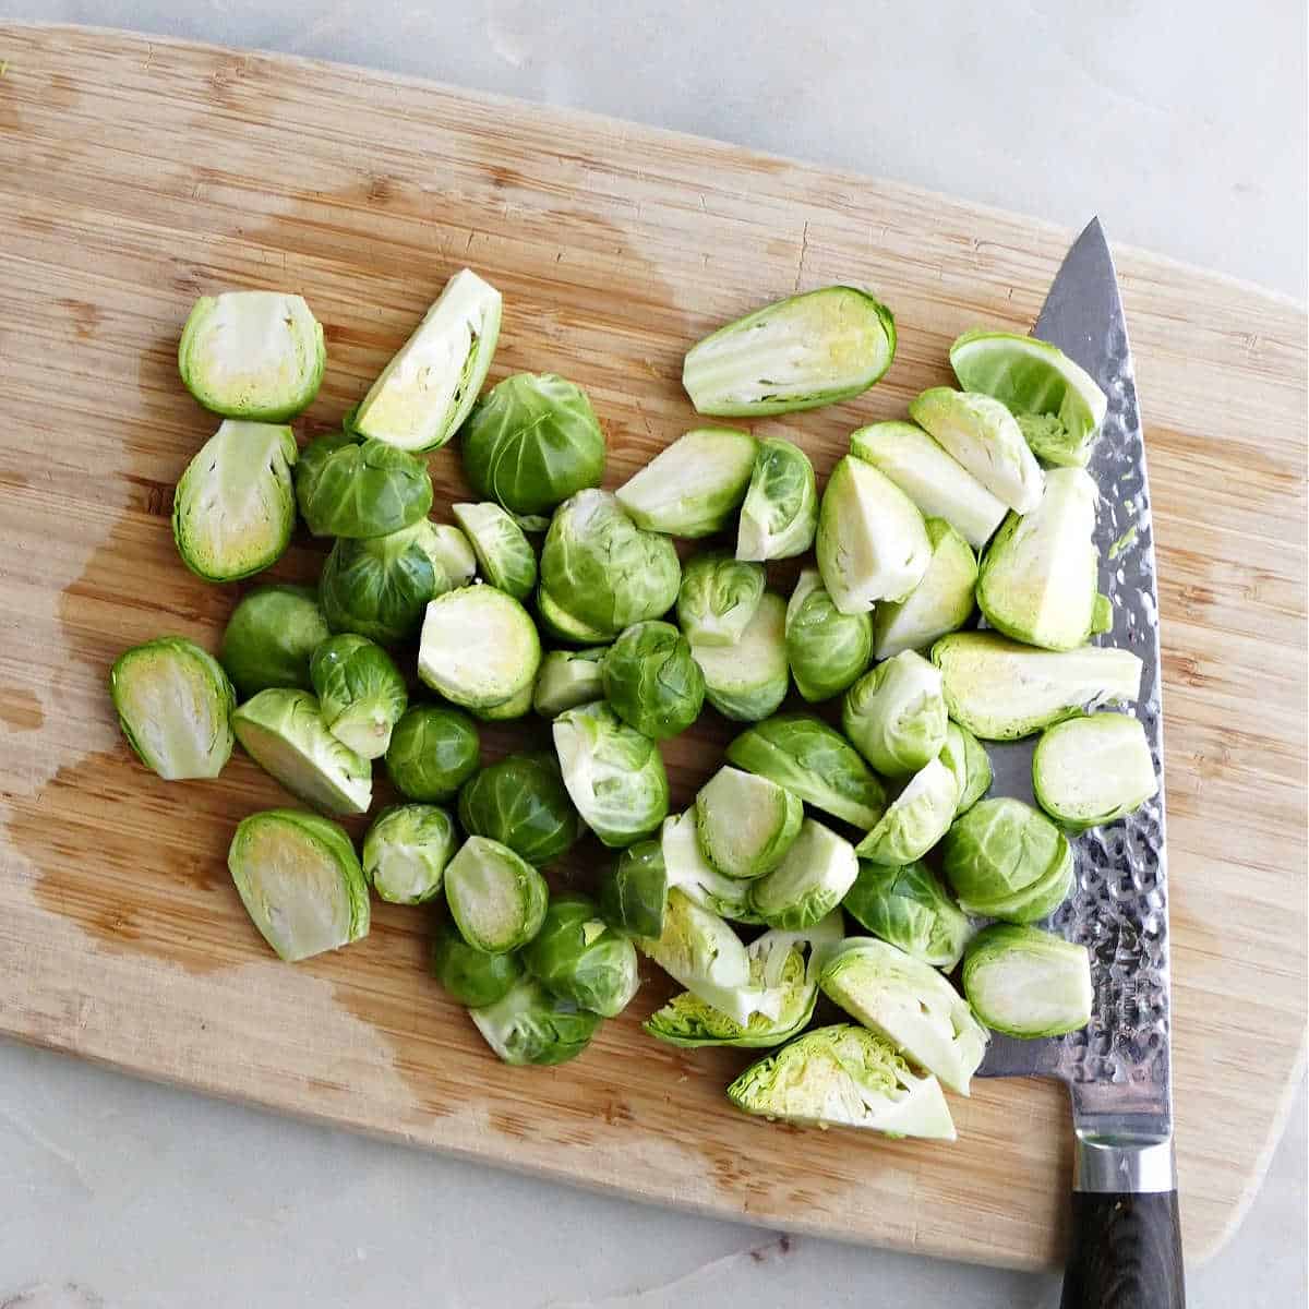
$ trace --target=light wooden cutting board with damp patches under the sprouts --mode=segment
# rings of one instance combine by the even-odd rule
[[[75,29],[0,27],[0,1030],[321,1122],[745,1219],[1035,1267],[1060,1254],[1063,1090],[983,1083],[954,1147],[738,1115],[745,1059],[640,1033],[509,1069],[424,973],[429,915],[291,967],[230,886],[249,761],[166,784],[105,691],[124,647],[217,647],[237,596],[179,563],[173,484],[213,431],[177,378],[202,292],[302,292],[335,424],[446,278],[505,297],[493,377],[594,399],[617,484],[692,423],[686,347],[798,288],[877,288],[899,352],[850,404],[761,423],[825,474],[847,433],[948,381],[962,329],[1026,330],[1072,236],[908,187],[384,73]],[[1089,217],[1089,215],[1088,215]],[[1238,1221],[1305,1031],[1305,315],[1119,250],[1149,442],[1165,649],[1177,1135],[1186,1241]],[[437,516],[466,496],[432,458]],[[312,579],[297,541],[274,571]],[[712,719],[712,721],[709,721]],[[499,753],[539,725],[487,733]],[[670,744],[675,800],[712,715]],[[584,847],[579,874],[598,847]]]

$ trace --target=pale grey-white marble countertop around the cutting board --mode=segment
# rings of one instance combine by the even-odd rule
[[[1306,285],[1302,5],[0,0],[429,76],[852,168]],[[724,50],[730,50],[724,56]],[[1276,52],[1276,59],[1270,58]],[[4,51],[0,50],[0,58]],[[1305,1090],[1191,1309],[1309,1299]],[[0,1042],[0,1309],[966,1305],[1058,1278],[669,1213]],[[1185,1212],[1183,1212],[1185,1223]]]

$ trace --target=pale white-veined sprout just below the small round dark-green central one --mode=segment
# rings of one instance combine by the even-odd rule
[[[668,813],[668,774],[649,737],[602,702],[560,713],[552,732],[568,795],[606,846],[630,846],[658,830]]]

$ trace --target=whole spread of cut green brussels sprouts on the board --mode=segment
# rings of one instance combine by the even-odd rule
[[[970,332],[962,389],[860,428],[821,495],[798,444],[740,427],[687,432],[610,492],[579,386],[482,394],[500,312],[459,272],[300,449],[288,421],[325,364],[309,306],[195,305],[182,380],[223,423],[177,486],[183,562],[249,577],[297,516],[331,547],[317,588],[246,592],[217,658],[179,636],[124,652],[127,740],[168,780],[217,776],[240,741],[309,806],[250,814],[229,851],[284,959],[367,935],[370,894],[440,895],[432,971],[507,1063],[580,1054],[640,952],[683,988],[652,1037],[775,1050],[728,1089],[741,1109],[953,1139],[941,1088],[967,1094],[988,1029],[1086,1022],[1085,952],[1033,924],[1073,885],[1067,834],[1156,791],[1140,723],[1085,712],[1141,673],[1089,644],[1110,626],[1085,473],[1105,397],[1054,347]],[[713,419],[787,414],[860,394],[894,351],[882,305],[829,287],[699,342],[683,384]],[[437,524],[425,457],[456,435],[482,500]],[[683,564],[674,538],[712,539]],[[810,548],[771,589],[768,564]],[[792,686],[827,717],[788,708]],[[658,744],[706,702],[747,725],[669,813]],[[478,724],[530,715],[552,749],[482,767]],[[984,798],[982,741],[1038,732],[1041,808]],[[374,759],[401,802],[356,852],[335,819],[369,812]],[[590,895],[554,893],[541,869],[588,831],[615,853]],[[810,1028],[819,995],[852,1021]]]

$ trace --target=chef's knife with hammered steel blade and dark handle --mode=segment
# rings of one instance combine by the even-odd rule
[[[1098,219],[1064,258],[1033,336],[1058,346],[1109,398],[1088,471],[1100,487],[1100,589],[1114,606],[1098,644],[1144,662],[1136,715],[1162,778],[1158,593],[1145,444],[1114,262]],[[991,746],[995,795],[1031,800],[1034,738]],[[1182,1309],[1173,1161],[1164,789],[1075,842],[1077,882],[1052,929],[1090,952],[1088,1026],[1041,1041],[994,1038],[982,1076],[1058,1077],[1076,1132],[1072,1250],[1063,1309]]]

